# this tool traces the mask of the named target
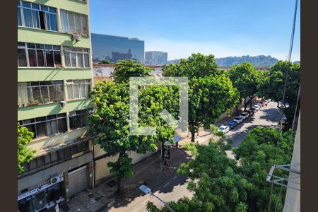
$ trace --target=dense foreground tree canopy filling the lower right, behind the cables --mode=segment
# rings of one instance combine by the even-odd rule
[[[174,211],[267,211],[271,183],[266,176],[273,165],[278,129],[257,127],[235,149],[235,160],[226,156],[223,139],[208,146],[193,143],[195,157],[180,165],[178,173],[187,175],[192,199],[183,197],[168,204]],[[195,148],[195,150],[193,149]],[[293,154],[293,138],[290,132],[282,134],[277,152],[277,164],[288,164]],[[288,177],[288,173],[276,170],[275,175]],[[278,211],[284,204],[285,188],[273,187],[272,210]],[[280,199],[280,201],[278,201]],[[168,211],[157,208],[151,202],[148,211]]]

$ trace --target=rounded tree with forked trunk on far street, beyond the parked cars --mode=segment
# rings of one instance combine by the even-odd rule
[[[243,62],[240,65],[233,66],[229,71],[233,86],[240,92],[240,98],[244,99],[244,110],[246,110],[249,98],[250,107],[252,99],[259,90],[260,78],[259,71],[251,63]]]

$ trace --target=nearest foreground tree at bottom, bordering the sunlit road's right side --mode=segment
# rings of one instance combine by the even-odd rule
[[[243,211],[242,203],[252,184],[237,172],[236,161],[226,156],[222,142],[210,142],[208,146],[196,144],[197,155],[180,165],[178,173],[190,177],[188,189],[194,192],[192,199],[182,198],[169,202],[174,211]],[[148,211],[161,210],[148,203]]]

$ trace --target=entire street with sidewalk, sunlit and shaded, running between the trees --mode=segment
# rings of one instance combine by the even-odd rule
[[[278,123],[279,112],[276,102],[269,102],[267,107],[261,109],[252,117],[247,118],[235,129],[230,130],[225,136],[233,140],[232,146],[235,148],[242,142],[249,130],[257,126],[273,126]],[[223,121],[217,124],[220,126],[226,124]],[[160,169],[159,153],[152,155],[141,163],[134,165],[134,176],[125,179],[125,187],[129,189],[126,196],[122,199],[115,199],[112,193],[116,187],[109,187],[107,184],[101,184],[89,191],[83,191],[69,201],[69,212],[73,211],[145,211],[148,201],[153,202],[159,208],[163,203],[150,194],[143,194],[138,187],[140,184],[146,184],[153,189],[152,192],[163,201],[177,201],[183,196],[192,197],[192,193],[187,190],[189,179],[186,176],[177,175],[177,168],[180,163],[187,163],[191,155],[182,148],[185,143],[189,143],[191,138],[179,141],[181,148],[172,149],[168,167]],[[199,131],[199,136],[195,139],[196,143],[206,145],[211,139],[216,140],[217,136],[211,134],[209,129]],[[229,158],[234,158],[231,150],[226,151]],[[95,194],[95,197],[89,198],[88,193]],[[98,197],[99,196],[99,197]]]

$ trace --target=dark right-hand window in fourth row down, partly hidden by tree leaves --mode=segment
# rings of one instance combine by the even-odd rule
[[[78,110],[69,112],[70,129],[78,129],[87,126],[86,117],[93,112],[93,109]]]

